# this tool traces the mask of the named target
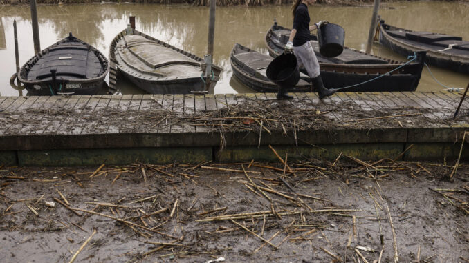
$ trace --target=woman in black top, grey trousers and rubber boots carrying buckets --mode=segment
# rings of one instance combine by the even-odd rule
[[[309,13],[307,4],[315,3],[316,0],[296,0],[292,6],[293,11],[293,30],[291,30],[290,38],[285,46],[285,52],[293,52],[297,57],[298,66],[303,65],[311,78],[313,87],[318,91],[319,98],[322,99],[335,93],[334,89],[328,90],[324,88],[319,72],[319,63],[311,47],[310,32],[319,29],[327,21],[320,21],[313,26],[309,26]],[[291,99],[286,94],[286,90],[280,90],[277,95],[278,99]]]

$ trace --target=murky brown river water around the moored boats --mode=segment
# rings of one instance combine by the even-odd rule
[[[365,50],[373,6],[310,6],[312,21],[327,20],[345,29],[345,45]],[[18,95],[10,87],[15,72],[13,20],[17,20],[19,60],[24,64],[33,56],[33,37],[29,6],[1,6],[0,23],[0,93]],[[469,5],[446,2],[385,3],[381,16],[395,26],[412,30],[445,32],[469,40]],[[136,29],[157,39],[203,57],[207,50],[208,8],[192,6],[163,6],[153,4],[86,4],[69,6],[38,6],[41,47],[46,48],[72,32],[105,55],[109,43],[127,26],[128,17],[136,16]],[[282,26],[291,27],[290,6],[217,7],[214,61],[224,71],[215,87],[216,93],[252,92],[232,77],[229,56],[235,43],[267,53],[264,45],[266,31],[274,17]],[[373,54],[405,61],[387,48],[374,44]],[[431,67],[434,77],[442,84],[465,88],[469,76]],[[122,93],[141,93],[138,88],[122,81]],[[443,90],[424,69],[418,91]]]

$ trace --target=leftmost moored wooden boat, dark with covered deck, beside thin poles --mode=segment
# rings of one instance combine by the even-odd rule
[[[109,61],[72,34],[29,59],[18,72],[28,95],[93,95],[104,84]]]

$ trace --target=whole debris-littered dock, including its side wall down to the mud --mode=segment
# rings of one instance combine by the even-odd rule
[[[456,159],[457,92],[0,97],[0,164]],[[462,109],[469,109],[469,99]],[[469,138],[469,135],[466,137]],[[401,154],[403,153],[403,154]],[[469,157],[463,147],[461,158]]]

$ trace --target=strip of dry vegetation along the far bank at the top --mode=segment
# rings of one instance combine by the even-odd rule
[[[284,4],[292,3],[293,0],[216,0],[217,6],[264,6],[269,4]],[[393,0],[383,0],[393,1]],[[445,0],[454,1],[454,0]],[[462,2],[469,2],[469,0],[455,0]],[[188,3],[194,6],[209,6],[210,0],[37,0],[38,4],[57,4],[57,3],[160,3],[160,4],[181,4]],[[373,3],[374,0],[318,0],[318,3],[325,5],[360,5],[366,3]],[[26,5],[29,0],[0,0],[0,5]]]

